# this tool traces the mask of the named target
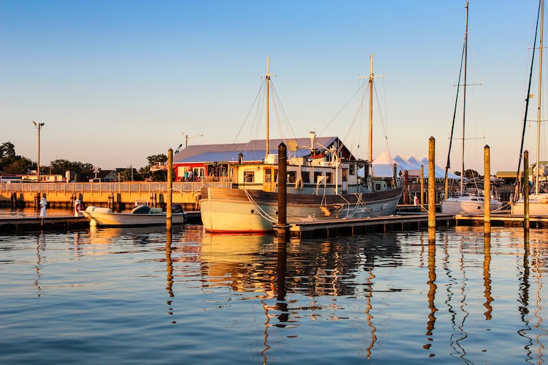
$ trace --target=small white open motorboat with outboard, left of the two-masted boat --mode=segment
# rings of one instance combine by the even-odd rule
[[[183,224],[184,212],[182,207],[177,205],[172,208],[171,220],[173,224]],[[148,207],[147,205],[134,207],[129,213],[116,213],[112,212],[112,210],[107,207],[95,207],[90,205],[81,213],[90,220],[91,226],[129,227],[166,224],[166,212],[162,212],[160,208]]]

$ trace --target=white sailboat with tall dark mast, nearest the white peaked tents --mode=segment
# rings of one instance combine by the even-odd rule
[[[445,166],[445,199],[441,201],[441,212],[444,214],[461,214],[461,213],[482,213],[484,212],[484,194],[482,190],[477,189],[477,193],[471,194],[465,192],[464,187],[464,126],[466,120],[466,53],[468,51],[468,0],[466,0],[466,27],[464,31],[464,47],[462,49],[462,71],[464,76],[464,84],[462,84],[462,159],[461,159],[461,173],[460,173],[460,189],[459,194],[454,197],[449,197],[448,194],[448,174],[449,174],[449,156],[451,155],[451,142],[453,139],[453,129],[451,128],[451,141],[449,142],[449,153],[447,153],[447,165]],[[458,88],[460,87],[460,75]],[[458,99],[457,88],[457,99]],[[456,105],[455,105],[456,107]],[[456,108],[455,108],[456,110]],[[453,115],[453,125],[455,119]],[[489,179],[490,177],[484,177]],[[488,194],[490,196],[490,194]],[[502,203],[495,197],[490,197],[490,209],[498,210],[502,207]]]

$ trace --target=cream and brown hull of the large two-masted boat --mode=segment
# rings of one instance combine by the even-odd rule
[[[328,203],[327,206],[319,203],[292,203],[291,199],[288,199],[287,223],[389,216],[396,211],[401,197],[401,190],[398,191],[399,194],[384,194],[385,197],[379,194],[381,198],[374,201],[367,201],[364,198],[365,194],[353,194],[352,197],[360,197],[360,199],[363,197],[363,199],[348,203],[331,203],[331,205]],[[200,200],[201,221],[206,231],[273,231],[273,224],[277,223],[277,194],[261,192],[260,197],[253,197],[249,193],[246,196],[245,190],[208,188],[206,199]],[[265,197],[268,197],[268,201]],[[321,197],[318,198],[321,199]],[[336,205],[336,209],[333,205]]]

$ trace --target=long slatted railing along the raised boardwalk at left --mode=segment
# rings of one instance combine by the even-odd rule
[[[185,181],[173,182],[174,193],[198,192],[202,188],[229,188],[229,181]],[[51,182],[51,183],[0,183],[0,194],[4,192],[167,192],[165,181],[125,182]]]

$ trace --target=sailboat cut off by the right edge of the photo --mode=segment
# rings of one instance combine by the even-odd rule
[[[540,122],[541,118],[541,105],[542,105],[542,77],[543,77],[543,29],[544,29],[544,0],[540,0],[538,3],[538,11],[540,12],[540,42],[538,47],[538,108],[537,108],[537,124],[538,128],[536,131],[536,164],[533,168],[534,178],[533,185],[534,189],[529,196],[529,214],[533,216],[548,216],[548,192],[546,192],[547,182],[548,182],[548,166],[543,166],[540,164]],[[537,27],[538,29],[538,27]],[[535,40],[536,42],[536,40]],[[534,47],[533,47],[533,57],[534,60]],[[531,62],[531,71],[533,70],[533,61]],[[527,99],[525,107],[525,118],[523,118],[523,134],[521,141],[521,151],[520,151],[520,162],[521,155],[523,154],[523,136],[525,136],[525,124],[527,123],[527,107],[529,105],[530,93],[527,90]],[[526,181],[529,181],[529,166],[523,166],[525,176],[527,177]],[[519,167],[518,167],[519,175]],[[541,185],[542,184],[542,185]],[[517,186],[517,184],[516,184]],[[543,190],[544,191],[541,191]],[[516,196],[517,198],[517,196]],[[518,200],[512,202],[511,207],[512,214],[523,215],[525,211],[525,203],[523,196],[519,197]]]

